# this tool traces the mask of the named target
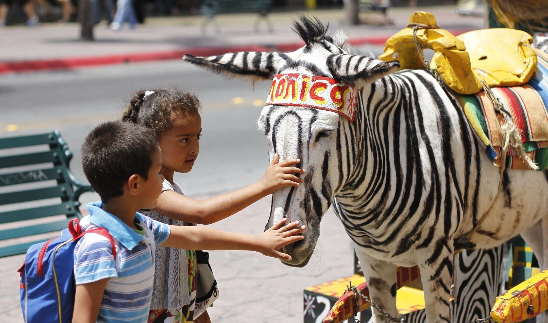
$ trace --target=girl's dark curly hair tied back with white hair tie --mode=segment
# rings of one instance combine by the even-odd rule
[[[125,110],[122,121],[146,126],[161,135],[173,127],[177,112],[184,114],[199,113],[200,101],[192,93],[175,89],[154,89],[144,99],[145,90],[135,94]]]

